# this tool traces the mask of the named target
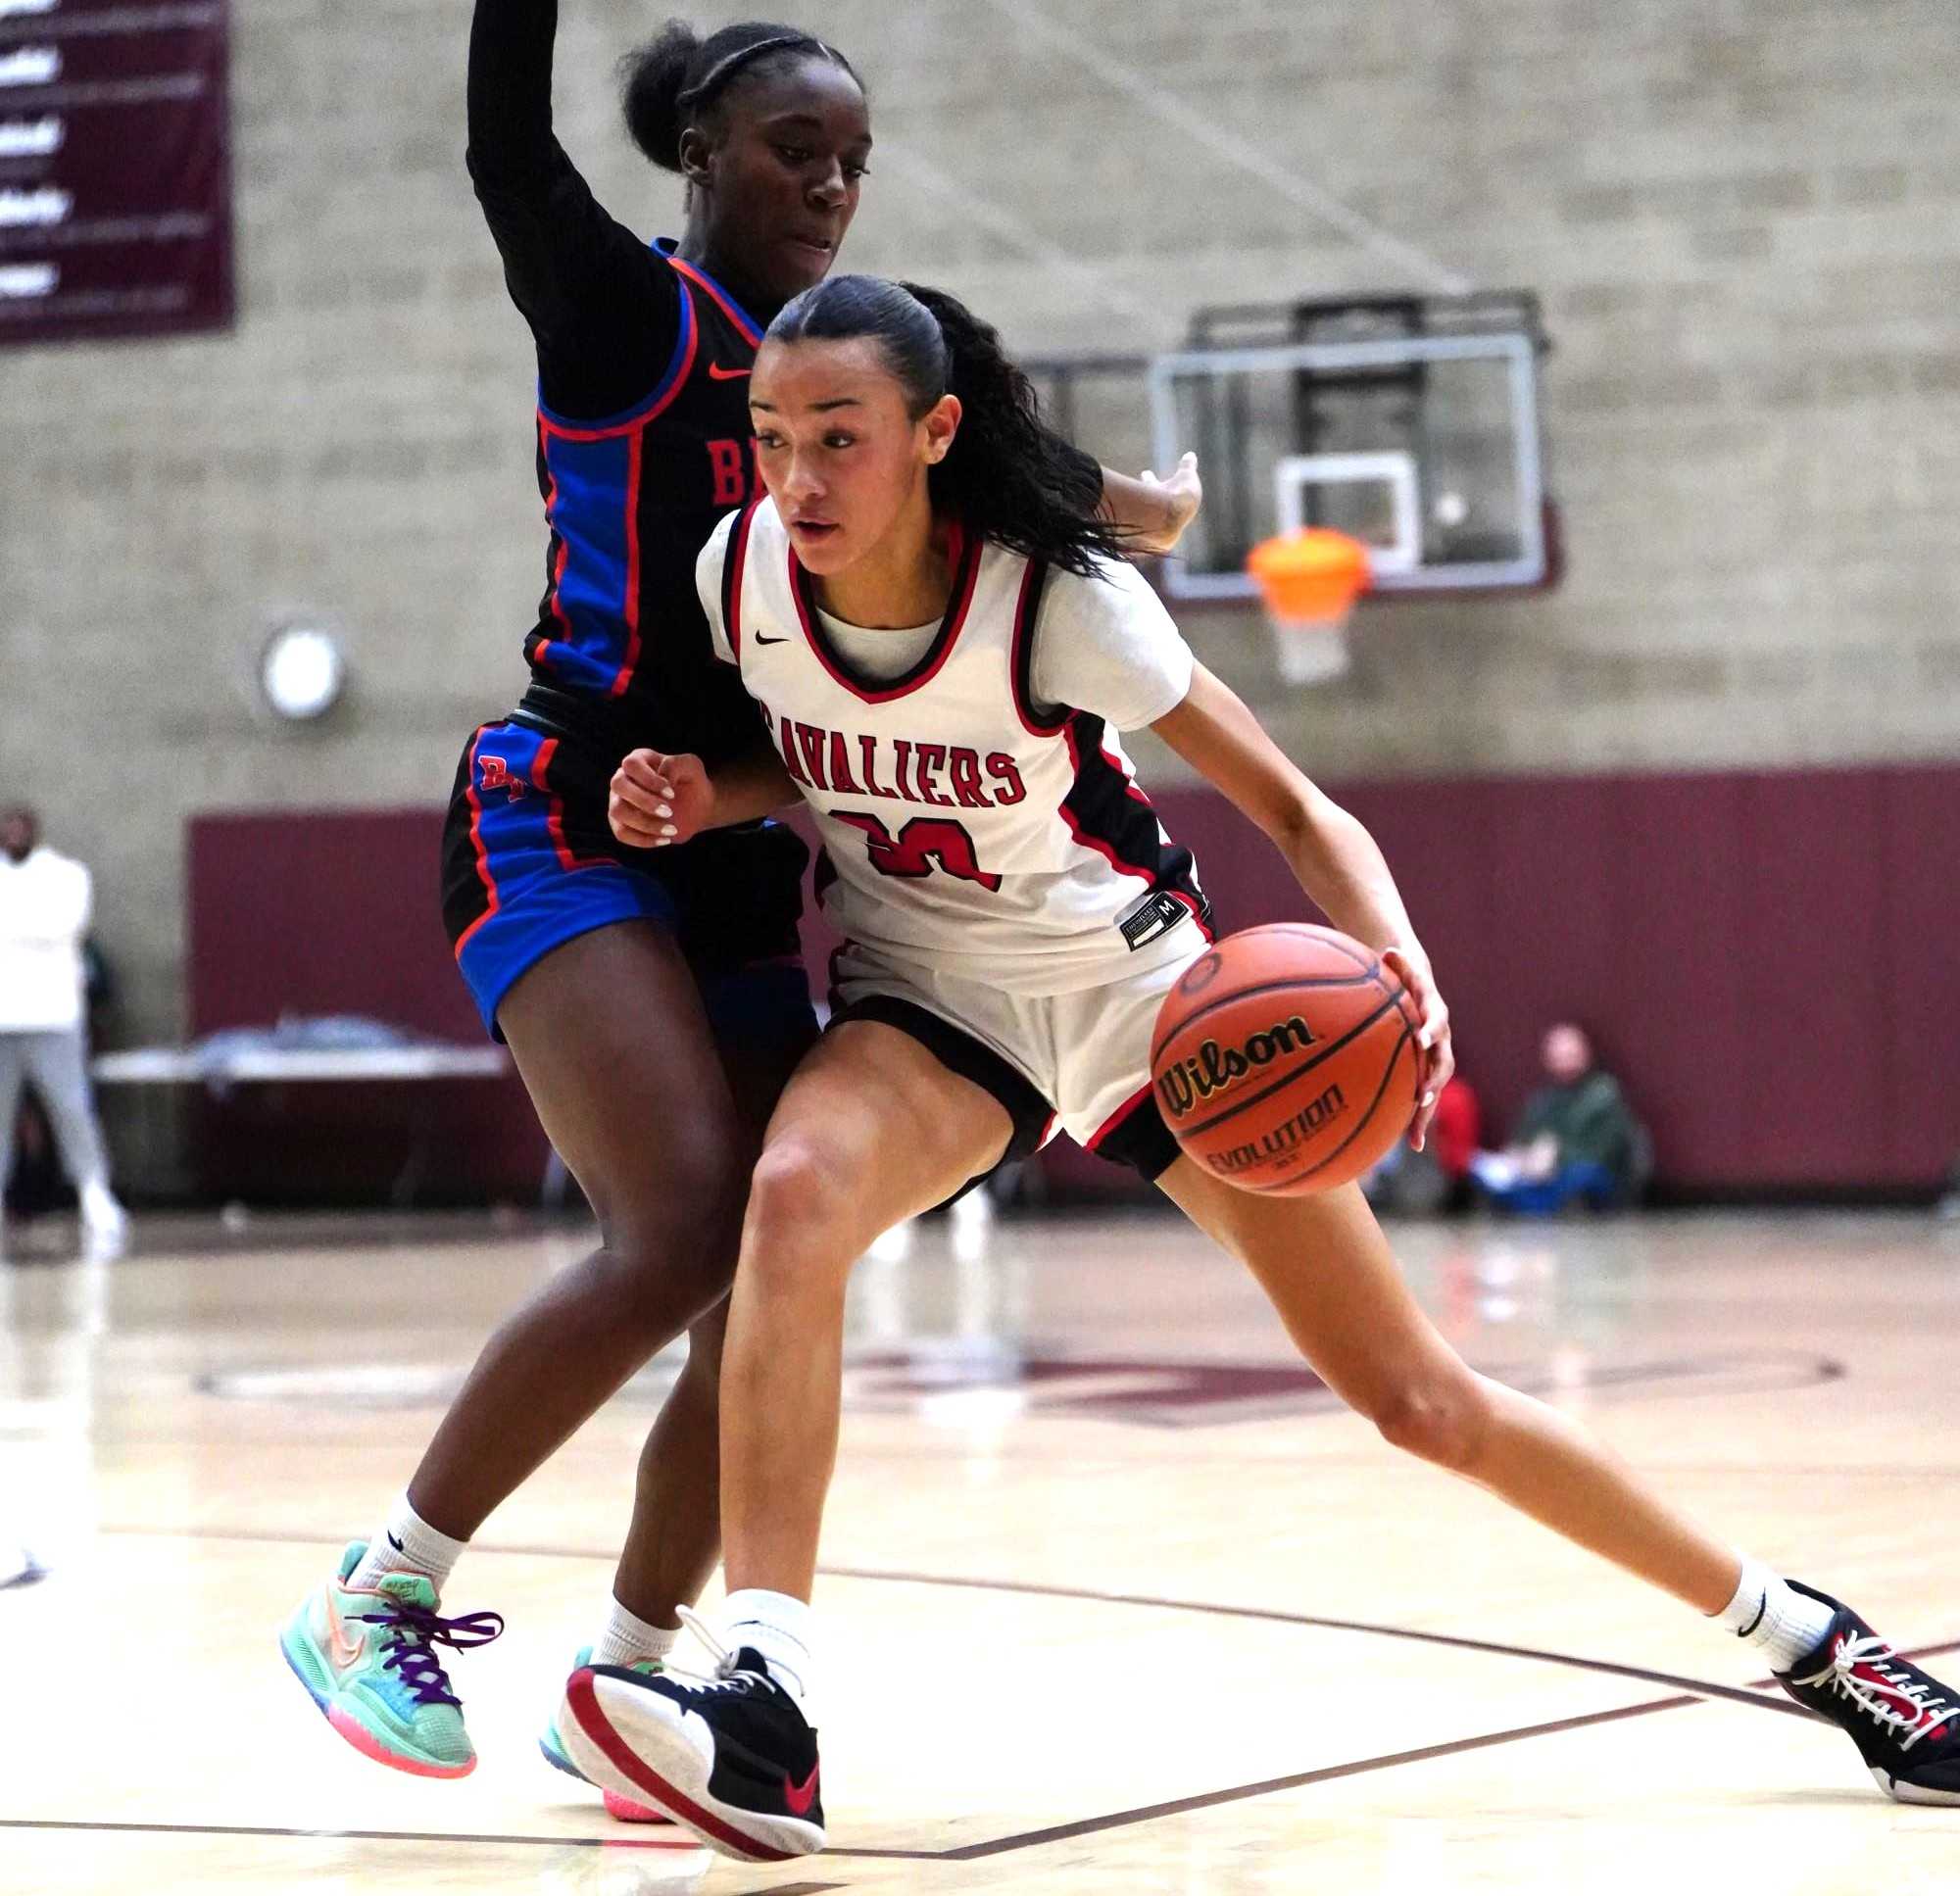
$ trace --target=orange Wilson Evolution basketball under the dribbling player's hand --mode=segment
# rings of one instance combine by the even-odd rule
[[[1360,1177],[1415,1116],[1415,1001],[1335,928],[1227,934],[1164,995],[1151,1079],[1215,1177],[1298,1197]]]

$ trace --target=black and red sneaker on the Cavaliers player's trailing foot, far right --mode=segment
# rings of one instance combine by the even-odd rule
[[[1788,1673],[1799,1706],[1842,1726],[1878,1788],[1901,1804],[1960,1804],[1960,1694],[1903,1659],[1842,1600],[1788,1583],[1829,1606],[1831,1630]]]

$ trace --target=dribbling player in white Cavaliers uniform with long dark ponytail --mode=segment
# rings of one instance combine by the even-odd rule
[[[1374,840],[1115,558],[996,333],[953,298],[833,276],[772,323],[751,405],[768,496],[717,529],[700,590],[770,744],[713,782],[694,758],[637,752],[612,821],[625,842],[676,842],[800,795],[847,946],[743,1230],[721,1371],[719,1671],[576,1671],[559,1730],[578,1767],[729,1855],[821,1849],[809,1592],[845,1279],[882,1230],[1058,1122],[1241,1257],[1321,1379],[1394,1446],[1762,1647],[1893,1796],[1960,1804],[1960,1700],[1837,1600],[1684,1520],[1570,1416],[1468,1369],[1356,1185],[1262,1199],[1178,1154],[1149,1083],[1151,1026],[1205,950],[1205,899],[1115,729],[1151,725],[1409,985],[1417,1142],[1450,1067],[1448,1015]]]

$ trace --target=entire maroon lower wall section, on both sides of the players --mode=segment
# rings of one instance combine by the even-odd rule
[[[1960,1152],[1960,768],[1333,791],[1396,868],[1488,1122],[1533,1085],[1539,1030],[1574,1017],[1652,1124],[1666,1185],[1923,1189]],[[1309,913],[1213,791],[1158,805],[1225,928]],[[435,811],[194,819],[194,1032],[298,1009],[474,1036],[439,829]],[[533,1177],[517,1081],[449,1091],[484,1169]]]

